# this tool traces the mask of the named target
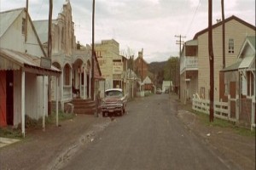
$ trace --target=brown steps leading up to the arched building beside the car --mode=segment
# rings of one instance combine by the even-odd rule
[[[91,99],[73,99],[73,112],[76,114],[94,115],[96,103]]]

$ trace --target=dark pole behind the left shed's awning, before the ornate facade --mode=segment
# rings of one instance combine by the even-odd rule
[[[52,0],[49,0],[49,20],[48,20],[48,57],[51,59],[51,20],[52,20]],[[58,104],[56,104],[58,105]],[[51,77],[48,77],[48,115],[51,114]]]

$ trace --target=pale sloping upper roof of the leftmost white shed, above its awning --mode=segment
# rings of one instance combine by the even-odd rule
[[[0,37],[9,29],[9,26],[18,18],[24,8],[16,8],[0,13]]]

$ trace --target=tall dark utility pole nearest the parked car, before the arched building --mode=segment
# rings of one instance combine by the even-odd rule
[[[92,1],[92,47],[91,47],[91,88],[90,88],[90,98],[94,100],[94,18],[95,18],[95,0]]]

